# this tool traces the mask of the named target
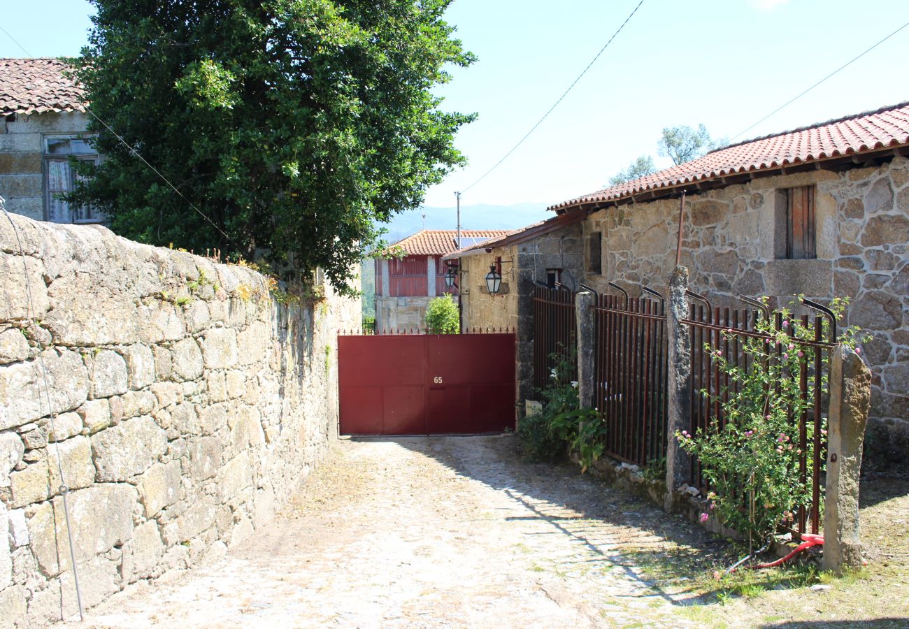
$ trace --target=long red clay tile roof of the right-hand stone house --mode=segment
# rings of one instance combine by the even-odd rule
[[[786,165],[867,153],[907,143],[909,102],[726,146],[654,175],[645,175],[590,195],[551,205],[549,209],[563,210],[576,205],[617,201],[651,190],[715,180],[739,173],[778,170]]]

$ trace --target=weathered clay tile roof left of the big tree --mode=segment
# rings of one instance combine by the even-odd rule
[[[0,59],[0,115],[84,112],[85,92],[59,59]]]

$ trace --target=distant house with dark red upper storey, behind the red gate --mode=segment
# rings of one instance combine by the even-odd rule
[[[504,230],[462,229],[461,243],[504,235]],[[377,329],[423,329],[426,304],[437,295],[457,295],[445,285],[442,256],[458,248],[454,230],[424,229],[389,247],[402,254],[375,259],[375,326]]]

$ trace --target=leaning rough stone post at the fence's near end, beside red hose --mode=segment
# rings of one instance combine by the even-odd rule
[[[862,567],[858,536],[858,485],[864,426],[871,404],[871,370],[853,350],[830,357],[830,418],[824,500],[824,570]]]

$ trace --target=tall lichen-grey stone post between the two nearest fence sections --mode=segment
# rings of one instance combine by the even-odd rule
[[[668,421],[666,430],[666,497],[663,508],[672,511],[675,490],[688,482],[691,458],[679,446],[675,432],[691,427],[691,337],[688,326],[688,269],[676,266],[669,277],[666,333],[669,342]]]

